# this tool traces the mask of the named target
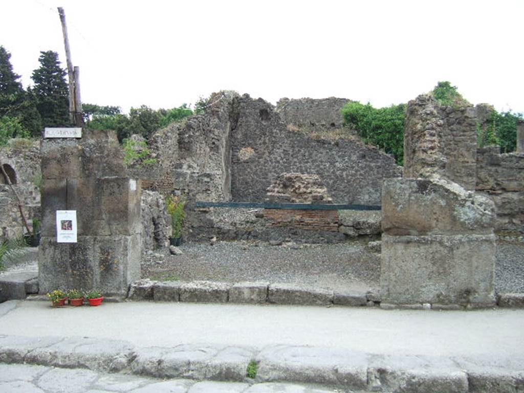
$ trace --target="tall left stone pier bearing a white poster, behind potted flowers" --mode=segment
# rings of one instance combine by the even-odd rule
[[[140,182],[126,176],[114,132],[83,133],[42,140],[40,293],[75,288],[123,296],[140,277]],[[77,242],[57,242],[57,211],[75,212]]]

